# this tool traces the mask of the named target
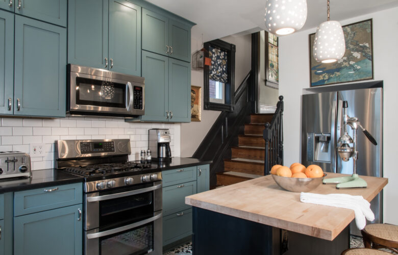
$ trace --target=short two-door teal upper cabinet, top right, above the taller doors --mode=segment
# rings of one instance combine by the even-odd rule
[[[191,61],[191,25],[142,8],[142,49]]]

